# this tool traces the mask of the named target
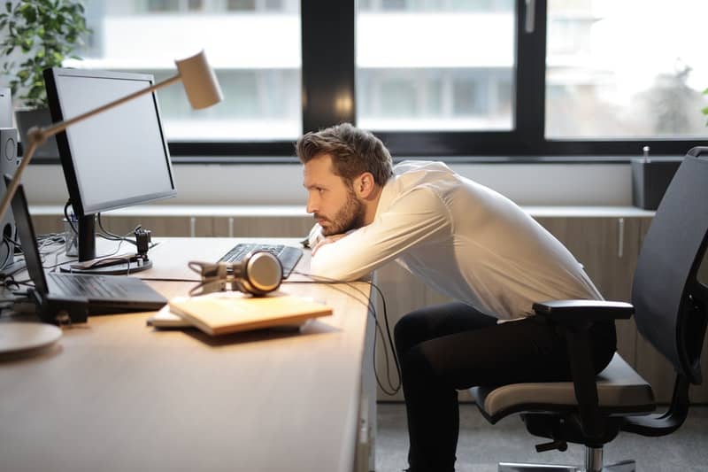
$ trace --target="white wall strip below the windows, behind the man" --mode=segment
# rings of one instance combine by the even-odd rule
[[[519,205],[631,205],[628,164],[459,164],[460,174]],[[304,205],[301,166],[175,165],[178,196],[166,205]],[[23,181],[34,205],[67,199],[60,166],[29,166]]]

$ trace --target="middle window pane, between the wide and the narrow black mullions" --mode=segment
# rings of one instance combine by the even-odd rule
[[[358,8],[359,126],[512,129],[513,0],[366,0]]]

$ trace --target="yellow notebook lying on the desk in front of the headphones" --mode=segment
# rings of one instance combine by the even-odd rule
[[[332,314],[332,308],[322,303],[277,293],[266,297],[212,293],[201,297],[173,298],[169,305],[170,311],[210,335],[297,325],[311,318]]]

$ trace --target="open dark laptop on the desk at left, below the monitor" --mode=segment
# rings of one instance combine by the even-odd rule
[[[5,182],[10,178],[6,175]],[[22,185],[12,197],[12,213],[19,234],[19,244],[25,254],[27,273],[35,282],[34,295],[39,304],[48,298],[81,300],[88,303],[91,314],[156,311],[167,299],[136,277],[124,275],[81,275],[44,273],[42,257],[37,247],[35,228],[29,216],[27,197]]]

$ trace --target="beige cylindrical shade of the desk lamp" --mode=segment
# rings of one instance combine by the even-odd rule
[[[219,81],[206,60],[204,50],[190,58],[175,60],[174,63],[180,71],[180,79],[192,108],[199,110],[218,104],[224,99]]]

